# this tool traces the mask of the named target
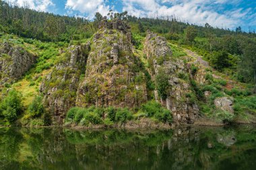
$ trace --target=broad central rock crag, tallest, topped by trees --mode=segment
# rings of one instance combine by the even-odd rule
[[[124,23],[102,21],[77,90],[77,106],[131,108],[146,102],[145,76],[131,50],[130,35]]]

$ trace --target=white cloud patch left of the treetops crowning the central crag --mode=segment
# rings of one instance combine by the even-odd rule
[[[92,18],[96,12],[106,15],[110,10],[110,6],[106,5],[104,0],[67,0],[65,8],[86,13],[90,18]]]

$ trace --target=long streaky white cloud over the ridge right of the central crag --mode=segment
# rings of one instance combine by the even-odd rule
[[[233,28],[249,13],[243,11],[225,11],[218,13],[217,9],[223,3],[236,4],[238,0],[123,0],[123,11],[137,17],[176,16],[191,24]],[[164,3],[170,5],[166,6]],[[219,7],[219,8],[218,8]]]

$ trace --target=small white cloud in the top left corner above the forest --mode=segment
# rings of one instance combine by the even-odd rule
[[[35,9],[36,11],[47,11],[51,6],[54,6],[52,0],[5,0],[13,5],[18,5],[20,7],[28,7],[30,9]]]

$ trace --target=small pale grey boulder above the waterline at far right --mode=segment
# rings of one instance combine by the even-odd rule
[[[218,97],[214,100],[214,105],[220,110],[234,114],[233,101],[228,97]]]

